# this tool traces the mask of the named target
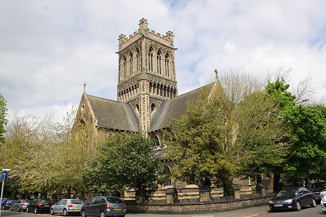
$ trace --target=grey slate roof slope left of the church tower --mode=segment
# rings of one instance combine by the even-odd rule
[[[91,95],[87,97],[97,117],[98,127],[140,132],[139,120],[129,104]]]

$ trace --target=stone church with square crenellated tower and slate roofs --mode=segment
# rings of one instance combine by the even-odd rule
[[[99,142],[105,141],[109,134],[119,132],[147,133],[155,140],[153,151],[156,156],[166,163],[166,173],[171,172],[171,164],[165,158],[165,135],[161,130],[172,126],[172,118],[184,114],[187,102],[195,99],[205,87],[211,86],[223,92],[215,70],[215,82],[178,96],[174,55],[177,49],[173,37],[171,31],[161,35],[150,30],[144,18],[140,20],[139,29],[132,35],[126,37],[121,34],[117,52],[117,101],[88,95],[84,86],[75,118],[75,124],[85,124],[93,139]],[[249,182],[246,183],[247,187],[251,185]],[[154,197],[159,199],[162,193],[164,198],[163,192],[169,188],[185,189],[178,194],[184,199],[198,196],[197,185],[167,180]],[[251,191],[250,187],[248,189]],[[129,193],[126,192],[124,199],[134,197]],[[221,194],[218,191],[215,193]]]

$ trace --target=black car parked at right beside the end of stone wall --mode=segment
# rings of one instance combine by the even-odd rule
[[[269,201],[271,211],[293,209],[300,211],[303,206],[316,207],[316,196],[305,187],[284,188],[276,198]]]

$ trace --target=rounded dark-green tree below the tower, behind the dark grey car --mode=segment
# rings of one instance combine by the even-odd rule
[[[98,153],[105,184],[114,190],[136,189],[136,200],[149,198],[161,183],[161,164],[153,147],[153,142],[139,133],[110,135]]]

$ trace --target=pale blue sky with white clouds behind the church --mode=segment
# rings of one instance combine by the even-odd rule
[[[231,70],[291,69],[326,95],[326,1],[0,0],[0,93],[8,114],[62,119],[87,94],[117,100],[118,37],[147,19],[174,33],[179,95]]]

